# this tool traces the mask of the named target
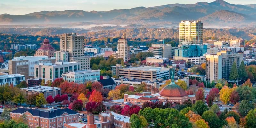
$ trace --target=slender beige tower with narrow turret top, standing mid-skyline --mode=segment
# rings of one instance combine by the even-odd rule
[[[128,48],[128,43],[126,39],[126,34],[123,34],[123,37],[118,39],[117,42],[117,58],[123,58],[124,62],[129,60],[130,50]]]

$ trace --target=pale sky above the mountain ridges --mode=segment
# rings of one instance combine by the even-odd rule
[[[39,11],[108,11],[165,4],[195,4],[214,0],[0,0],[0,14],[24,15]],[[231,4],[256,4],[255,0],[225,0]]]

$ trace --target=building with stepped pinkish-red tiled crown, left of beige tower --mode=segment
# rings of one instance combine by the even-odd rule
[[[36,51],[34,56],[48,56],[54,57],[55,49],[49,43],[49,39],[45,38],[43,41],[43,45]]]

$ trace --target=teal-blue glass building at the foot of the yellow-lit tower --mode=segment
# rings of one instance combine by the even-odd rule
[[[178,57],[199,57],[207,53],[210,45],[182,45],[179,49],[175,49],[175,56]]]

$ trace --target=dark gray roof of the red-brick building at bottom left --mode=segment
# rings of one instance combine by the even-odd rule
[[[26,108],[18,108],[16,110],[13,110],[12,113],[20,113],[23,114],[25,112],[29,112],[31,113],[33,116],[39,116],[39,117],[43,117],[43,118],[53,118],[56,116],[60,116],[63,113],[68,113],[68,114],[77,114],[78,112],[73,111],[71,109],[65,108],[65,109],[57,109],[54,111],[48,111],[48,112],[44,112],[44,111],[40,111],[40,110],[33,110],[33,109],[26,109]]]

